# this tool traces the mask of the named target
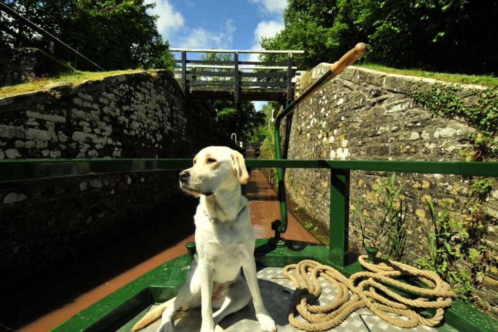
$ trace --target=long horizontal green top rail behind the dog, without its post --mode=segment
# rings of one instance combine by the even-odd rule
[[[182,170],[191,165],[192,159],[4,159],[0,160],[0,183],[71,176]],[[498,162],[246,159],[246,165],[282,169],[328,168],[331,170],[498,177]]]

